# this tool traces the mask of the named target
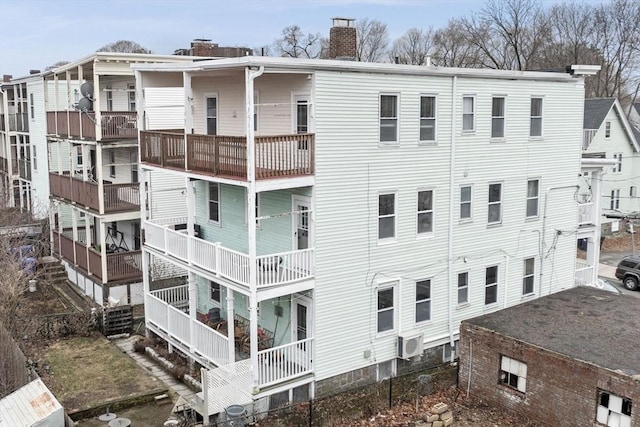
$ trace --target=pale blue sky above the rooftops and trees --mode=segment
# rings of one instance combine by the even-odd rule
[[[544,0],[543,4],[551,4]],[[484,0],[0,0],[0,74],[21,77],[73,61],[117,41],[157,54],[189,47],[194,38],[256,48],[284,27],[326,36],[331,18],[377,19],[391,40],[412,27],[443,27],[479,11]]]

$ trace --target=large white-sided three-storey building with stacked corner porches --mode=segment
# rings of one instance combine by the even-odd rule
[[[141,206],[145,272],[188,277],[144,275],[146,325],[207,368],[205,418],[453,360],[462,320],[574,285],[590,67],[133,68],[141,191],[154,173],[184,191],[175,214]],[[159,102],[176,87],[180,123]]]

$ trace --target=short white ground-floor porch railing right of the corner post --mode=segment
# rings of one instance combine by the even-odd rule
[[[258,352],[260,387],[313,372],[313,338]]]

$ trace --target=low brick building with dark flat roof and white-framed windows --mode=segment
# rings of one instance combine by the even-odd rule
[[[458,387],[548,426],[640,425],[638,301],[577,287],[462,322]]]

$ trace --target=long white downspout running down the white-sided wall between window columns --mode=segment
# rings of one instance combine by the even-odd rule
[[[451,346],[451,359],[453,361],[453,210],[455,198],[455,166],[456,166],[456,105],[457,105],[458,76],[453,76],[451,85],[451,146],[449,150],[449,248],[447,253],[447,268],[449,270],[449,345]]]

